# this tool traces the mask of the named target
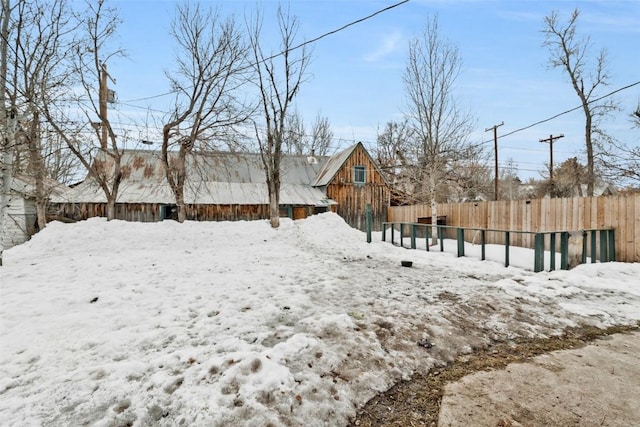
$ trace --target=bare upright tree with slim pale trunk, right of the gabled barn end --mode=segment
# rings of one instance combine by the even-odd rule
[[[438,194],[446,187],[451,165],[472,158],[479,147],[468,141],[473,119],[456,104],[455,82],[461,63],[457,47],[441,37],[437,17],[409,44],[404,84],[406,116],[415,135],[411,147],[417,161],[414,180],[420,184],[415,195],[430,202],[433,224]]]

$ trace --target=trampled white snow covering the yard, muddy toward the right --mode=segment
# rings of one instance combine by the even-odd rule
[[[494,339],[640,319],[639,264],[533,273],[367,244],[335,214],[52,223],[0,283],[9,426],[340,426]]]

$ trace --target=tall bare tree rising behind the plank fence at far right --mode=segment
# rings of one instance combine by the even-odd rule
[[[595,139],[600,138],[604,144],[606,134],[598,128],[600,119],[617,106],[612,101],[594,102],[598,97],[597,90],[606,86],[609,81],[607,70],[607,52],[600,50],[592,61],[589,58],[591,41],[576,34],[580,12],[575,9],[568,22],[560,22],[558,12],[552,12],[544,18],[545,35],[543,46],[549,48],[549,64],[552,68],[562,68],[569,77],[571,86],[580,98],[585,117],[585,148],[587,154],[587,195],[593,196],[595,175]],[[593,62],[593,63],[592,63]]]

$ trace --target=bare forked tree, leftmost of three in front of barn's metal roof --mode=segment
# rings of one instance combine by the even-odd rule
[[[58,74],[59,90],[43,92],[41,108],[47,123],[65,142],[102,191],[107,201],[107,219],[115,218],[115,204],[124,173],[123,149],[108,118],[107,62],[123,56],[111,48],[120,19],[116,9],[105,7],[105,0],[87,1],[86,10],[74,14],[78,29],[67,49],[68,68]],[[111,79],[115,81],[114,79]],[[74,87],[82,88],[75,93]],[[58,102],[62,97],[75,100],[71,108]],[[78,116],[80,112],[80,116]],[[87,137],[87,133],[94,138]]]

